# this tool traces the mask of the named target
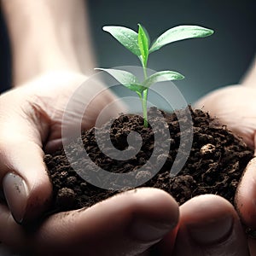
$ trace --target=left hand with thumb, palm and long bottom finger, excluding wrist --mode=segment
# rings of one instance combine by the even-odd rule
[[[52,188],[43,148],[54,151],[61,146],[62,114],[70,97],[74,95],[77,107],[90,102],[82,120],[84,129],[94,125],[102,108],[115,100],[98,83],[89,84],[82,96],[74,93],[84,79],[79,73],[46,73],[0,98],[0,178],[8,204],[0,205],[0,226],[4,230],[0,241],[14,251],[35,255],[80,255],[84,251],[90,255],[135,255],[177,224],[177,204],[169,195],[156,190],[145,195],[140,190],[86,211],[52,215],[32,233],[25,229],[48,206]],[[94,97],[99,91],[101,95]],[[122,106],[113,105],[104,117],[109,119],[122,110]],[[66,125],[76,123],[76,118],[80,119],[81,113],[73,115]],[[154,232],[147,230],[147,224]]]

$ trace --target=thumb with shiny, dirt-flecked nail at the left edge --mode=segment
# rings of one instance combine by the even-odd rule
[[[15,96],[11,98],[15,101]],[[6,101],[8,95],[1,98],[1,104],[7,105]],[[0,109],[0,181],[9,209],[21,223],[43,212],[51,195],[51,183],[41,148],[44,123],[37,123],[37,113],[28,102],[17,106],[10,107],[8,114]]]

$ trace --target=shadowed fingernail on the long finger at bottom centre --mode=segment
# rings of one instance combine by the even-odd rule
[[[150,223],[135,220],[130,227],[131,236],[140,241],[160,241],[176,224]]]

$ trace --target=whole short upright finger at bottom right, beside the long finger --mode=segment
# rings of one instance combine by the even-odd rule
[[[201,195],[183,204],[174,255],[249,255],[230,202],[217,195]]]

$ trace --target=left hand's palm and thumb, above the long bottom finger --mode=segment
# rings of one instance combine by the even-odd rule
[[[44,150],[61,146],[61,120],[67,102],[73,98],[77,107],[66,125],[81,119],[82,126],[95,124],[103,108],[115,100],[110,90],[99,82],[84,83],[84,75],[73,72],[45,73],[9,90],[0,97],[0,181],[15,220],[18,223],[38,217],[47,207],[51,183],[44,165]],[[76,90],[83,84],[84,95]],[[119,104],[112,105],[104,117],[117,116]]]

